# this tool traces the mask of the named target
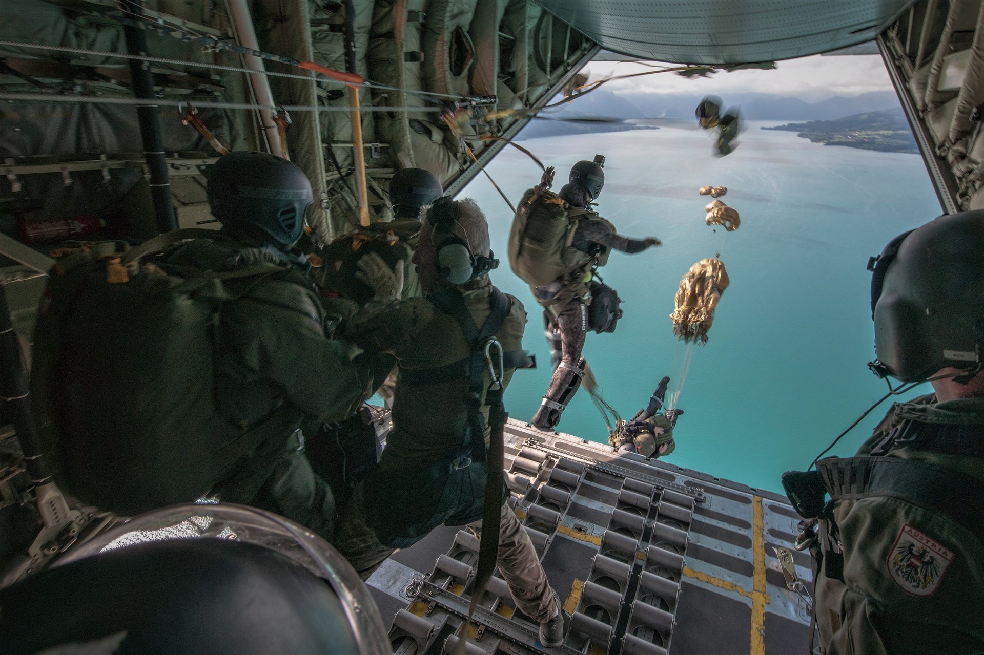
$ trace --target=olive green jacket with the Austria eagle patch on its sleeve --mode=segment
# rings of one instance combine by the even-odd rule
[[[929,395],[896,404],[858,454],[869,454],[905,419],[980,424],[984,439],[984,398],[937,403]],[[886,456],[952,468],[984,485],[984,458],[913,447]],[[828,655],[984,652],[984,544],[976,536],[947,515],[888,497],[837,501],[833,515],[843,581],[825,563],[816,582]],[[823,523],[822,534],[830,528]]]

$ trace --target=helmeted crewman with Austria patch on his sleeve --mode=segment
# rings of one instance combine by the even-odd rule
[[[984,652],[984,211],[906,232],[869,268],[870,366],[934,392],[893,404],[854,457],[783,476],[820,652]]]

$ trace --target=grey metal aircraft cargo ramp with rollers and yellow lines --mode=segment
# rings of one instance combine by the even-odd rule
[[[807,652],[813,575],[783,497],[514,420],[506,471],[572,627],[563,647],[543,648],[495,576],[470,655]],[[370,578],[395,653],[454,651],[477,550],[467,530],[442,527]]]

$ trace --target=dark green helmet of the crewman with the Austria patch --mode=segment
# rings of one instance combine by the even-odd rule
[[[984,210],[940,216],[872,258],[880,377],[926,380],[978,364],[984,331]]]

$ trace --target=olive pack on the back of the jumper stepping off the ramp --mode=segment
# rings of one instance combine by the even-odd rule
[[[596,216],[545,188],[527,190],[509,233],[510,268],[532,286],[547,286],[587,268],[593,258],[572,243],[578,223]]]

